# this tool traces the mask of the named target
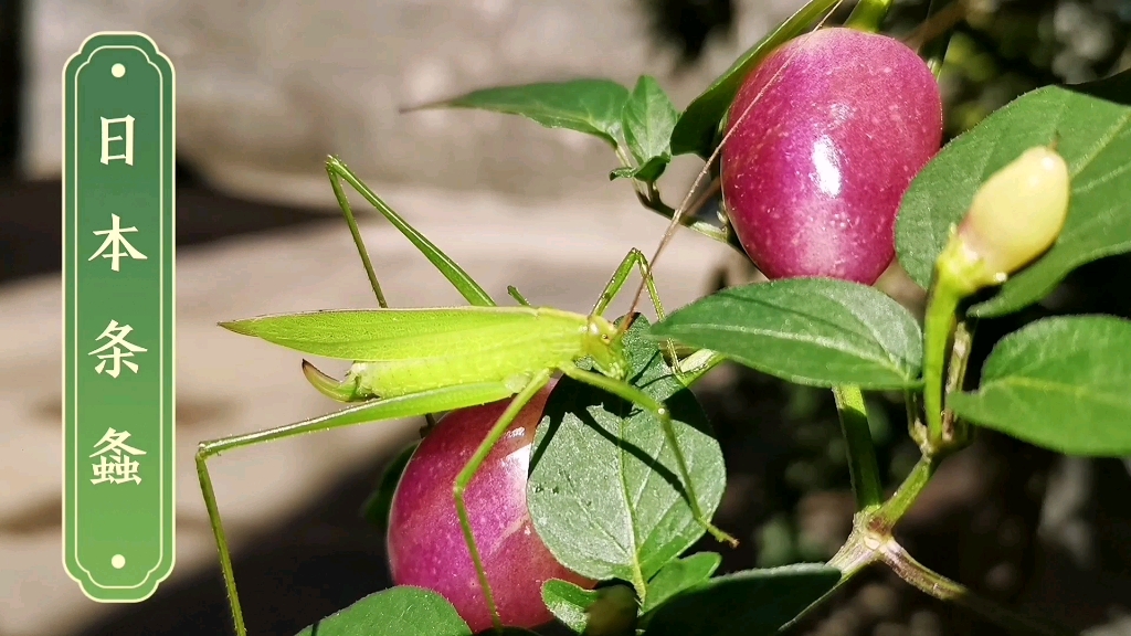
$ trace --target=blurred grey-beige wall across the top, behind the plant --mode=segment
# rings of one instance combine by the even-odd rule
[[[23,170],[58,174],[60,77],[100,29],[140,31],[176,71],[178,151],[215,186],[321,201],[336,154],[364,179],[553,198],[622,183],[604,143],[513,115],[402,106],[503,84],[655,75],[679,108],[802,0],[746,0],[693,69],[648,36],[638,0],[37,0],[28,3]],[[673,174],[679,179],[687,171]]]

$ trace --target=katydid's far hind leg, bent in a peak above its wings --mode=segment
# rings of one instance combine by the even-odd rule
[[[364,251],[364,247],[361,244],[361,235],[356,231],[356,221],[353,220],[353,213],[349,208],[349,203],[346,200],[345,192],[342,191],[342,183],[339,180],[349,183],[349,186],[357,191],[370,205],[377,208],[385,218],[389,221],[409,242],[416,246],[416,249],[424,255],[437,269],[443,274],[443,277],[448,280],[449,283],[456,291],[467,300],[468,303],[477,307],[495,307],[494,300],[483,287],[478,285],[468,274],[464,272],[459,265],[456,264],[448,255],[443,253],[440,248],[435,247],[431,241],[429,241],[424,234],[416,231],[415,227],[408,224],[399,214],[397,214],[391,207],[389,207],[380,197],[378,197],[373,190],[369,188],[352,170],[346,167],[346,164],[342,163],[337,157],[329,157],[326,160],[326,172],[330,175],[330,183],[334,184],[334,194],[338,197],[338,205],[342,207],[342,212],[346,214],[346,222],[349,223],[351,232],[354,232],[354,241],[357,242],[359,250],[362,251],[362,260],[366,263],[366,270],[372,272],[372,265],[369,264],[369,257]],[[377,277],[370,274],[370,282],[375,281]],[[382,307],[385,307],[382,304]]]

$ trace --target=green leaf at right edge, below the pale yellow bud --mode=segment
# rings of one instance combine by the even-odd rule
[[[1046,318],[998,343],[960,416],[1069,455],[1131,455],[1131,321]]]

